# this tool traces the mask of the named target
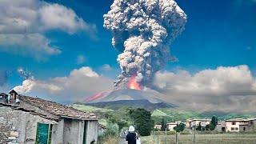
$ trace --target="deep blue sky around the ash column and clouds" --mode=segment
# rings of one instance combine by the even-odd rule
[[[114,80],[121,71],[116,61],[118,51],[111,45],[110,32],[103,28],[103,14],[110,10],[113,1],[44,2],[50,5],[58,3],[58,6],[73,10],[78,18],[82,18],[83,22],[91,27],[46,27],[43,23],[46,28],[36,30],[36,33],[47,38],[50,47],[61,50],[58,54],[57,52],[40,54],[42,51],[27,49],[26,45],[9,46],[0,40],[0,70],[8,72],[1,91],[22,84],[24,78],[17,73],[19,67],[29,70],[34,78],[44,82],[50,81],[51,78],[68,77],[70,71],[79,70],[83,66],[88,66],[97,74]],[[256,74],[256,17],[254,16],[256,2],[254,0],[177,0],[176,2],[185,11],[188,19],[186,30],[170,46],[171,54],[178,58],[178,62],[169,62],[164,70],[170,72],[186,70],[190,74],[196,74],[201,70],[216,70],[218,66],[246,65],[254,77]],[[4,5],[10,4],[2,3],[2,6]],[[1,17],[5,18],[8,15],[0,14],[0,19]],[[25,30],[24,33],[29,31]],[[0,34],[2,33],[0,23]],[[15,31],[12,33],[16,34]],[[30,53],[21,54],[19,50],[27,50]],[[31,94],[41,93],[32,91]]]

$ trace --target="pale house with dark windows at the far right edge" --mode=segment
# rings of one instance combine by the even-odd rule
[[[256,129],[256,118],[233,118],[225,121],[226,132],[246,132]]]

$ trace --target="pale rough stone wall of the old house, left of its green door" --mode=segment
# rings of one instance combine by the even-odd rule
[[[0,106],[2,143],[34,144],[37,133],[37,123],[52,123],[52,121],[11,107]]]

